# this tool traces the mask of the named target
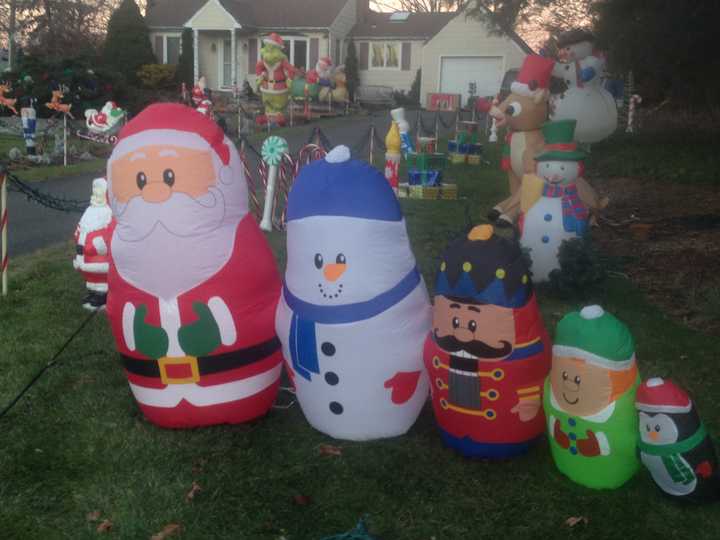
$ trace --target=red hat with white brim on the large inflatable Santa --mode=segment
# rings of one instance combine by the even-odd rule
[[[230,148],[220,126],[179,103],[155,103],[134,117],[120,130],[113,157],[147,144],[163,143],[198,149],[210,146],[222,165],[230,163]]]

